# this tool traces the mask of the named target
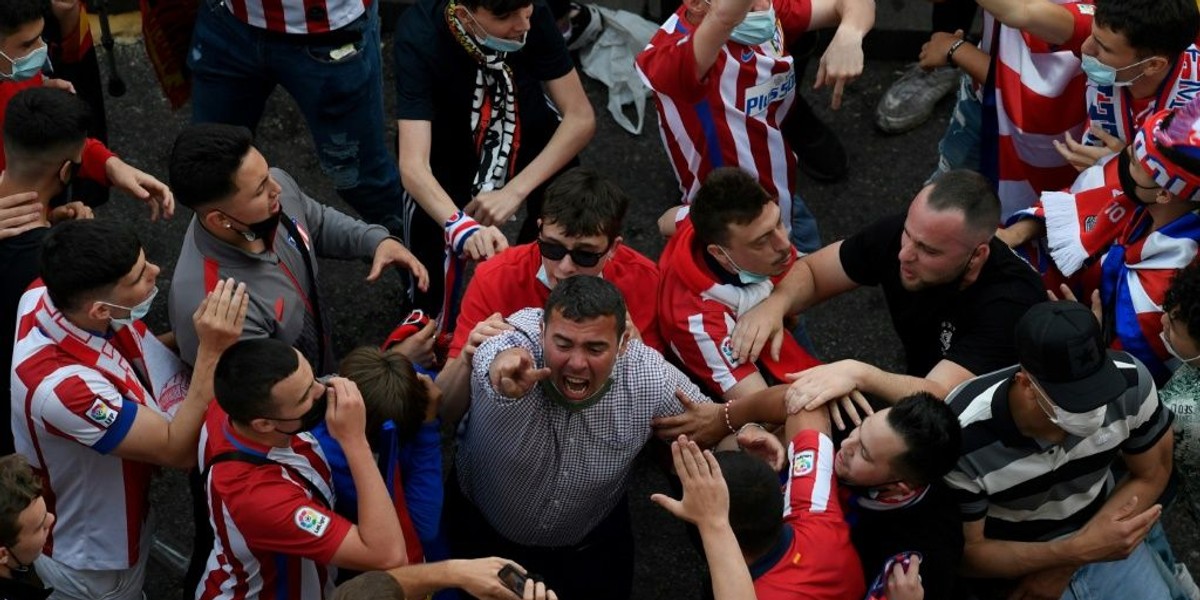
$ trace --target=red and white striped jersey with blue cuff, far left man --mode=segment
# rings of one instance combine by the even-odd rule
[[[144,541],[154,466],[109,452],[139,410],[166,415],[143,384],[146,347],[158,342],[142,322],[109,337],[76,326],[40,281],[17,314],[11,425],[58,515],[44,552],[72,569],[128,569]]]

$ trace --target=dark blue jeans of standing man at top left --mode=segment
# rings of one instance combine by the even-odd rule
[[[192,121],[253,130],[276,85],[308,122],[320,168],[337,193],[367,222],[401,230],[400,170],[384,142],[379,2],[337,32],[360,34],[322,43],[247,25],[221,0],[202,2],[187,66]],[[343,55],[344,54],[344,55]]]

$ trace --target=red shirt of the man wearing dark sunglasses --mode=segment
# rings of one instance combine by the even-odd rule
[[[470,330],[493,312],[508,317],[522,308],[544,307],[550,288],[538,280],[540,269],[536,242],[514,246],[480,264],[462,296],[450,358],[462,353]],[[659,268],[622,244],[600,275],[625,296],[625,307],[642,335],[642,343],[662,352],[658,323]]]

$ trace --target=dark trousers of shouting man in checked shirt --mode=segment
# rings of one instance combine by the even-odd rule
[[[492,529],[479,509],[462,494],[457,481],[457,474],[451,473],[442,511],[442,528],[450,539],[454,557],[508,558],[540,575],[564,600],[629,598],[634,587],[634,532],[628,499],[623,499],[580,544],[524,546]]]

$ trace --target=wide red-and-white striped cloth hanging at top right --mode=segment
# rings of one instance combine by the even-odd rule
[[[1087,120],[1087,77],[1079,54],[1092,31],[1092,6],[1055,1],[1075,17],[1072,38],[1058,46],[1001,25],[984,13],[980,48],[989,54],[998,52],[992,61],[998,164],[985,164],[984,169],[997,169],[1001,221],[1032,206],[1040,192],[1069,186],[1078,174],[1052,142],[1067,133],[1079,139]]]

